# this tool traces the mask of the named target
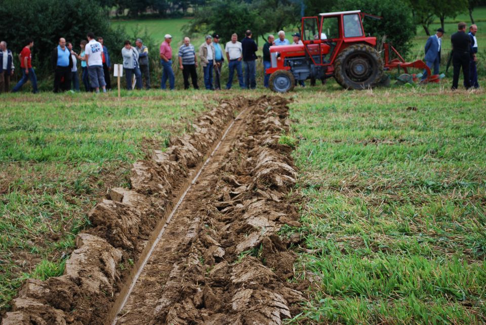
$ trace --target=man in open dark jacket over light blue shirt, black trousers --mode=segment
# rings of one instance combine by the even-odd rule
[[[52,51],[51,64],[54,68],[54,92],[71,89],[71,51],[66,47],[66,40],[59,38],[59,45]]]

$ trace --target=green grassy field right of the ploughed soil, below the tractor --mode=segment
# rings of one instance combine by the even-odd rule
[[[484,91],[327,87],[291,105],[305,204],[285,232],[312,283],[296,320],[485,322]]]

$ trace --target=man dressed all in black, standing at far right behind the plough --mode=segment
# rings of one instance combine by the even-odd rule
[[[464,74],[464,86],[469,89],[469,61],[471,38],[466,34],[466,23],[457,25],[458,31],[451,35],[452,42],[452,64],[454,66],[454,76],[452,79],[452,90],[457,89],[459,83],[459,72]]]

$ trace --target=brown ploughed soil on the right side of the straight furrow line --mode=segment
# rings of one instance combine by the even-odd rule
[[[301,299],[285,282],[294,256],[274,235],[296,216],[286,200],[295,171],[288,148],[277,143],[286,118],[285,100],[263,99],[235,121],[165,229],[117,324],[280,323],[291,316]]]

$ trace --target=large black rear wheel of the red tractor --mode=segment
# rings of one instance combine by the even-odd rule
[[[382,75],[383,61],[370,45],[351,45],[334,62],[334,78],[344,88],[367,89],[378,83]]]

